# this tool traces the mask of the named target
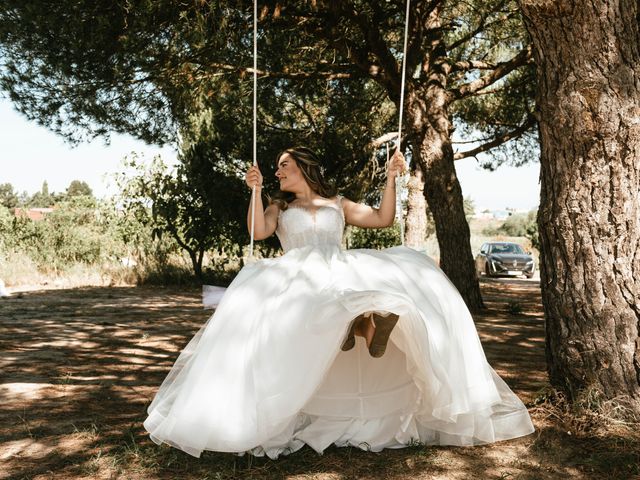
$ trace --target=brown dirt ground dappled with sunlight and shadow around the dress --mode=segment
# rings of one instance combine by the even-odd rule
[[[146,435],[145,409],[180,349],[210,315],[200,291],[27,291],[0,299],[0,478],[558,479],[640,478],[640,447],[571,431],[549,392],[537,281],[482,279],[474,315],[489,362],[530,409],[536,432],[481,447],[371,453],[305,447],[272,461],[205,452]]]

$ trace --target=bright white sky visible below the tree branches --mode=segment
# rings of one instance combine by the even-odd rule
[[[109,145],[96,139],[71,147],[0,97],[0,184],[11,183],[19,192],[39,191],[45,180],[50,192],[61,192],[72,180],[82,180],[96,196],[109,196],[116,193],[110,176],[121,170],[122,159],[132,152],[148,158],[161,155],[168,164],[176,162],[171,147],[147,145],[128,135],[113,135]],[[476,211],[531,210],[539,203],[537,162],[518,168],[502,166],[494,172],[478,167],[474,158],[458,160],[455,165],[462,194],[473,199]]]

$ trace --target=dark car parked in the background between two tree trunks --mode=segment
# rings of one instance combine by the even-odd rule
[[[476,271],[487,277],[525,275],[531,278],[535,269],[531,252],[525,253],[517,243],[487,242],[476,256]]]

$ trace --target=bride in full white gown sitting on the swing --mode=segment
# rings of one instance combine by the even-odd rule
[[[255,238],[275,232],[285,253],[245,266],[182,351],[148,408],[154,442],[277,458],[304,444],[380,451],[533,432],[431,258],[341,247],[346,224],[392,224],[404,165],[396,152],[377,209],[336,195],[307,148],[278,156],[280,192],[264,210],[260,170],[247,171]]]

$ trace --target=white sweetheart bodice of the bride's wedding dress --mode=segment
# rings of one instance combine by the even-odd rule
[[[276,235],[285,252],[308,245],[340,247],[344,225],[342,197],[338,196],[335,201],[313,210],[295,205],[281,210]]]

